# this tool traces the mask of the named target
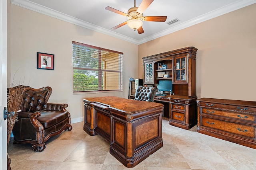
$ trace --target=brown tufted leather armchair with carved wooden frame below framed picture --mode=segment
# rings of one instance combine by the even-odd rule
[[[52,88],[34,89],[29,86],[23,91],[23,100],[18,121],[12,133],[15,143],[30,143],[34,151],[43,151],[45,142],[62,131],[71,131],[68,104],[47,103]]]

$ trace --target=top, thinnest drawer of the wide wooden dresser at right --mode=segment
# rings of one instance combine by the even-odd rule
[[[256,107],[248,107],[248,106],[240,106],[240,105],[229,105],[229,104],[216,104],[216,103],[210,103],[210,102],[200,102],[200,106],[226,109],[226,110],[229,110],[229,111],[256,113]]]

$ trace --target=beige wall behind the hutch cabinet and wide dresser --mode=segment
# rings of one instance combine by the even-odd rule
[[[196,95],[256,101],[256,4],[139,45],[142,57],[194,46]]]

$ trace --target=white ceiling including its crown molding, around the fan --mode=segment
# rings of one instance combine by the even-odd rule
[[[165,22],[143,21],[144,33],[138,34],[128,25],[112,27],[128,20],[125,16],[105,10],[107,6],[127,13],[134,0],[10,0],[12,4],[68,21],[135,44],[184,29],[202,21],[256,3],[256,0],[154,0],[143,16],[167,16]],[[136,0],[139,6],[142,0]],[[178,22],[166,22],[178,18]]]

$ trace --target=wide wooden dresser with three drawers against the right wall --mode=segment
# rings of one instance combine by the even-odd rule
[[[256,149],[256,102],[201,98],[197,131]]]

